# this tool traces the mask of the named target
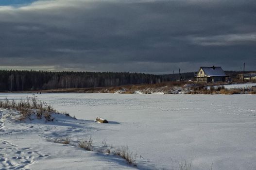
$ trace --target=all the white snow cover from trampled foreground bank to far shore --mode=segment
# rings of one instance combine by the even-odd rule
[[[0,94],[24,99],[31,94]],[[49,137],[92,136],[137,153],[139,169],[175,169],[187,161],[192,170],[256,170],[256,95],[37,95],[75,120],[4,121],[0,112],[0,169],[134,169],[116,156],[49,142]],[[96,123],[100,116],[109,124]],[[82,120],[81,120],[82,119]],[[21,166],[21,167],[20,167]]]

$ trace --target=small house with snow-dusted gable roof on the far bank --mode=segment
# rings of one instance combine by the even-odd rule
[[[228,77],[221,67],[200,67],[196,80],[200,83],[225,82]]]

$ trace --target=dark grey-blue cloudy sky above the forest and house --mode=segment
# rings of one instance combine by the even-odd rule
[[[0,0],[0,69],[256,70],[256,0]]]

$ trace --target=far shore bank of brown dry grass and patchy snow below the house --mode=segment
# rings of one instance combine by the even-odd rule
[[[226,84],[223,82],[198,84],[197,82],[165,82],[150,85],[124,85],[96,88],[64,88],[43,93],[113,93],[113,94],[256,94],[256,83]],[[236,89],[236,91],[234,91]],[[222,91],[221,91],[222,90]]]

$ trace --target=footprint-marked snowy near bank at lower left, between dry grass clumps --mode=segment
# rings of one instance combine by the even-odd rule
[[[0,170],[129,170],[135,169],[118,156],[88,152],[54,143],[51,138],[83,139],[95,131],[90,121],[53,114],[53,121],[17,121],[14,110],[0,111]]]

